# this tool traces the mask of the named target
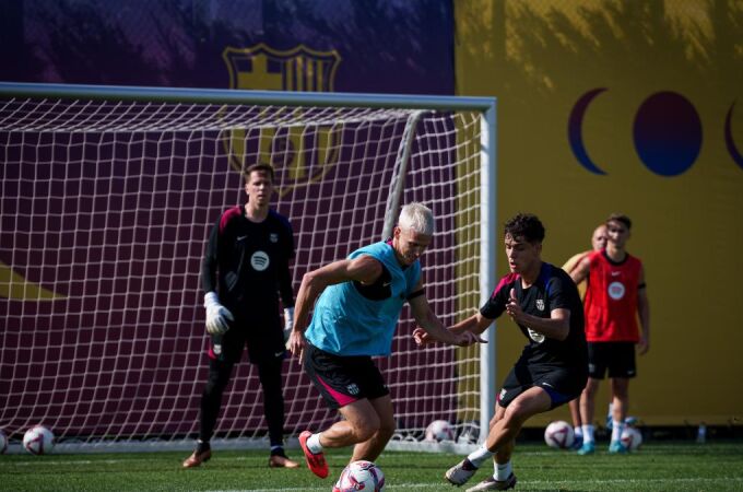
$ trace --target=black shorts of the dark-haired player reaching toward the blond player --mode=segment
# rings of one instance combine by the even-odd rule
[[[579,397],[587,379],[586,371],[576,367],[517,364],[506,376],[497,402],[508,407],[523,391],[539,386],[550,395],[552,410]]]

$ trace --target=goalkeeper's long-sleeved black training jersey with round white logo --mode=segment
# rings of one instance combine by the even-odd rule
[[[279,295],[284,307],[294,306],[292,258],[294,235],[286,218],[271,210],[256,223],[245,216],[245,207],[232,208],[209,237],[201,265],[204,292],[217,292],[238,319],[278,317]]]

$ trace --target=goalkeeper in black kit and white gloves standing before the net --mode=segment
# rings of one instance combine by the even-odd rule
[[[270,467],[297,468],[283,448],[284,396],[282,364],[285,337],[292,328],[294,296],[290,261],[294,237],[288,221],[269,208],[273,168],[255,164],[247,169],[248,202],[225,211],[212,229],[201,266],[211,335],[209,379],[201,396],[199,440],[185,468],[211,458],[210,438],[222,406],[222,393],[247,344],[258,366],[263,411],[271,442]],[[284,324],[279,297],[284,305]]]

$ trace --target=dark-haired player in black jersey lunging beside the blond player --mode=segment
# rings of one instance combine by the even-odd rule
[[[583,309],[570,277],[542,261],[544,226],[532,214],[518,214],[505,224],[510,273],[500,279],[480,312],[451,328],[482,333],[504,312],[527,338],[521,356],[497,397],[495,417],[482,447],[447,470],[450,483],[461,485],[488,459],[494,473],[468,492],[516,487],[511,467],[515,440],[532,415],[567,403],[580,395],[587,378]],[[420,343],[428,337],[415,333]]]

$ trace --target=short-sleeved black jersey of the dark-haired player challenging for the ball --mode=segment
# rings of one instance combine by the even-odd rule
[[[516,298],[521,309],[532,316],[549,318],[553,309],[570,311],[570,331],[563,341],[547,338],[519,324],[521,332],[529,340],[521,352],[519,363],[585,370],[588,366],[588,353],[583,331],[583,306],[573,279],[563,269],[546,262],[542,263],[539,279],[527,289],[521,286],[521,276],[509,273],[500,279],[491,298],[481,307],[480,314],[488,319],[500,316],[506,311],[511,289],[516,290]]]

